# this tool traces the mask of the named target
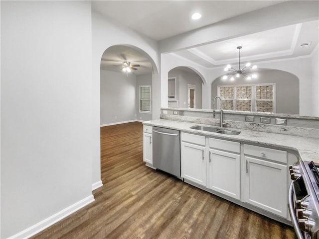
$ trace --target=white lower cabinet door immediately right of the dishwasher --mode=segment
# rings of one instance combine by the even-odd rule
[[[182,177],[206,186],[206,148],[181,142]]]

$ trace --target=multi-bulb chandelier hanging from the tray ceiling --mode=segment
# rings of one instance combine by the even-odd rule
[[[248,63],[246,63],[246,65],[245,65],[245,67],[243,69],[240,68],[240,49],[241,48],[242,48],[241,46],[237,47],[237,49],[238,49],[238,68],[239,68],[239,70],[236,70],[235,68],[233,68],[231,65],[228,64],[224,68],[224,71],[225,72],[229,72],[229,73],[222,77],[223,80],[226,80],[228,77],[230,77],[230,80],[235,80],[234,76],[235,77],[240,77],[241,75],[246,77],[247,80],[251,80],[252,78],[257,78],[256,74],[252,74],[251,73],[252,69],[256,69],[257,68],[256,65],[250,67],[251,63],[248,62]]]

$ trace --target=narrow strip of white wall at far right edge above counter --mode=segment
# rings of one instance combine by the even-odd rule
[[[318,45],[311,56],[312,69],[312,102],[313,102],[313,116],[319,116],[319,50]]]

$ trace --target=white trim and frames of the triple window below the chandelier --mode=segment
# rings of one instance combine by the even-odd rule
[[[262,85],[273,85],[274,86],[274,93],[273,93],[273,99],[259,99],[262,101],[273,101],[273,113],[276,113],[276,83],[259,83],[259,84],[226,84],[226,85],[217,85],[217,96],[220,96],[220,87],[234,87],[234,98],[229,99],[233,100],[233,110],[236,110],[236,90],[235,87],[241,87],[241,86],[251,86],[252,87],[252,94],[251,94],[251,110],[250,112],[257,112],[257,103],[258,99],[256,99],[256,86],[262,86]],[[225,99],[224,99],[225,100]],[[244,99],[243,99],[244,100]],[[217,101],[217,107],[220,108],[220,103]],[[248,112],[248,111],[247,111]]]

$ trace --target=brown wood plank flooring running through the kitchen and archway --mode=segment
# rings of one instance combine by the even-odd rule
[[[293,229],[155,171],[140,122],[101,128],[95,201],[33,239],[294,239]]]

